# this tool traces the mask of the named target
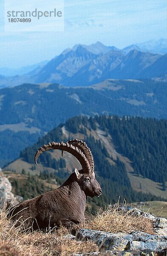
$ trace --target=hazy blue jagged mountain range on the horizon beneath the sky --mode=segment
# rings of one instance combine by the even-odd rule
[[[88,86],[105,79],[150,79],[167,74],[167,40],[148,41],[124,49],[108,47],[100,42],[75,45],[44,66],[37,65],[29,73],[0,77],[0,87],[23,83],[59,83],[65,86]],[[3,75],[3,74],[2,74]]]

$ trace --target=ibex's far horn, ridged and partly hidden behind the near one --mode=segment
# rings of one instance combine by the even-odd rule
[[[68,140],[68,143],[79,148],[84,154],[85,157],[88,159],[88,162],[91,166],[91,172],[94,172],[94,159],[93,154],[91,152],[91,149],[88,147],[88,145],[83,142],[82,140]]]

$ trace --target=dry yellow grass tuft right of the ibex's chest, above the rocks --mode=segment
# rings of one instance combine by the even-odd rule
[[[95,218],[80,224],[79,228],[88,228],[93,230],[106,231],[111,233],[131,233],[139,230],[142,232],[153,234],[153,222],[142,216],[130,215],[126,211],[126,203],[120,209],[119,202],[113,207],[105,207],[100,209]],[[78,228],[77,227],[77,228]]]

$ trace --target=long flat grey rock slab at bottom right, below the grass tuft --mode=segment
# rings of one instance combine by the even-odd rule
[[[152,251],[161,252],[167,248],[167,237],[150,235],[140,231],[129,235],[81,229],[76,238],[92,240],[99,246],[99,249],[105,251],[147,251],[151,253]]]

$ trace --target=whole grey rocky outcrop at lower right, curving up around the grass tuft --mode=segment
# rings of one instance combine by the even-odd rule
[[[156,218],[153,215],[138,209],[129,211],[129,214],[142,215],[153,221],[153,235],[135,231],[130,234],[109,233],[98,230],[81,229],[76,234],[76,239],[91,240],[98,246],[99,255],[147,255],[167,256],[167,219]],[[93,255],[93,254],[92,254]]]

